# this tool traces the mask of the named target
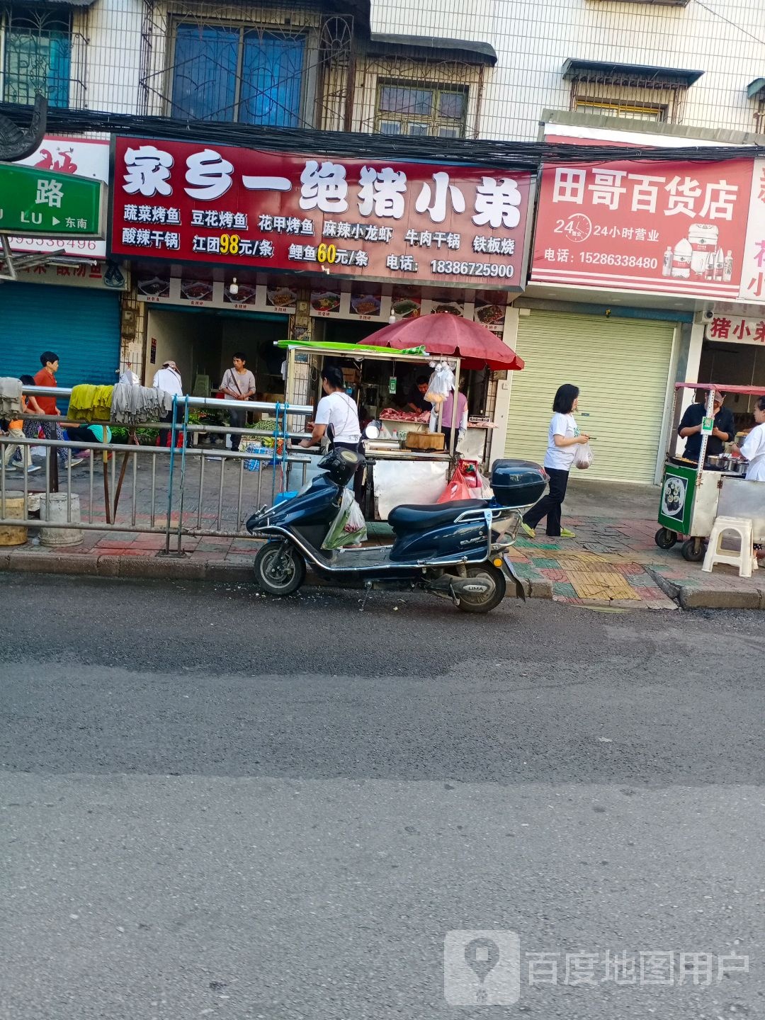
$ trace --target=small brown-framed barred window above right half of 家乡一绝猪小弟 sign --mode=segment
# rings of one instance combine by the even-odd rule
[[[374,130],[380,135],[464,138],[467,90],[380,83]]]

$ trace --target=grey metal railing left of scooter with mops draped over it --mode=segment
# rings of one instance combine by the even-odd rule
[[[29,396],[65,398],[71,391],[63,388],[24,387]],[[244,403],[244,402],[243,402]],[[275,428],[234,427],[231,425],[196,424],[189,420],[191,409],[217,411],[264,411],[276,421]],[[93,421],[92,424],[126,429],[129,442],[99,443],[80,440],[62,440],[35,437],[0,436],[0,525],[41,525],[45,528],[76,528],[84,531],[131,532],[161,534],[164,537],[165,555],[183,555],[184,537],[238,538],[246,536],[244,520],[253,509],[263,505],[264,478],[270,487],[270,502],[276,494],[284,493],[288,474],[297,470],[301,486],[305,482],[310,459],[305,454],[290,449],[290,441],[305,437],[305,432],[291,432],[287,416],[306,417],[313,408],[306,405],[248,401],[244,404],[210,397],[175,397],[169,421],[125,424],[117,421]],[[62,427],[81,422],[63,415],[13,414],[35,422],[54,421]],[[138,429],[166,430],[169,447],[144,446],[137,438]],[[196,445],[200,436],[239,435],[243,440],[260,441],[260,449],[244,452],[223,446]],[[106,439],[106,431],[103,432]],[[266,446],[269,445],[269,446]],[[4,466],[8,446],[21,448],[21,478],[16,483],[17,472]],[[29,474],[26,469],[24,450],[42,448],[45,451],[41,474]],[[64,461],[64,489],[58,472],[61,451],[71,451]],[[87,472],[72,467],[74,451],[89,451]],[[101,471],[97,461],[101,460]],[[121,460],[119,468],[118,461]],[[213,464],[217,466],[213,468]],[[230,469],[234,465],[234,470]],[[270,475],[268,472],[270,471]],[[39,478],[39,481],[37,480]],[[42,482],[44,480],[44,488]],[[103,483],[103,498],[100,489]],[[39,499],[63,496],[65,514],[59,509],[60,519],[44,520],[36,516]],[[22,497],[21,516],[9,515],[7,502],[12,496]],[[14,507],[13,509],[17,509]],[[42,515],[41,515],[42,516]],[[64,519],[65,517],[65,519]]]

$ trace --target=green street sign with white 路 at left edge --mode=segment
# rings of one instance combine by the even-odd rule
[[[36,166],[0,163],[0,233],[105,237],[106,186]]]

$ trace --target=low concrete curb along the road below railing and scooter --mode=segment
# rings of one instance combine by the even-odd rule
[[[254,559],[254,556],[253,556]],[[253,583],[250,566],[235,563],[175,559],[172,556],[87,556],[83,553],[17,552],[0,553],[0,572],[68,574],[81,577],[124,577],[145,580],[207,580]],[[349,583],[333,583],[308,572],[306,585],[310,588],[354,588]],[[543,579],[523,579],[527,599],[553,598],[553,582]]]

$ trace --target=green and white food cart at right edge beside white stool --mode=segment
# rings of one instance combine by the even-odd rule
[[[765,395],[761,387],[727,386],[716,382],[678,382],[675,386],[675,403],[681,390],[704,391],[708,394],[702,447],[698,463],[677,457],[672,449],[677,439],[669,439],[664,475],[659,499],[658,521],[661,527],[655,541],[660,549],[671,549],[679,538],[684,538],[682,555],[691,562],[704,559],[704,542],[709,538],[715,517],[749,517],[754,529],[754,541],[765,543],[765,484],[747,481],[746,461],[724,456],[707,458],[707,443],[714,419],[715,391],[725,394],[743,394],[752,397]],[[675,419],[674,408],[672,421]]]

